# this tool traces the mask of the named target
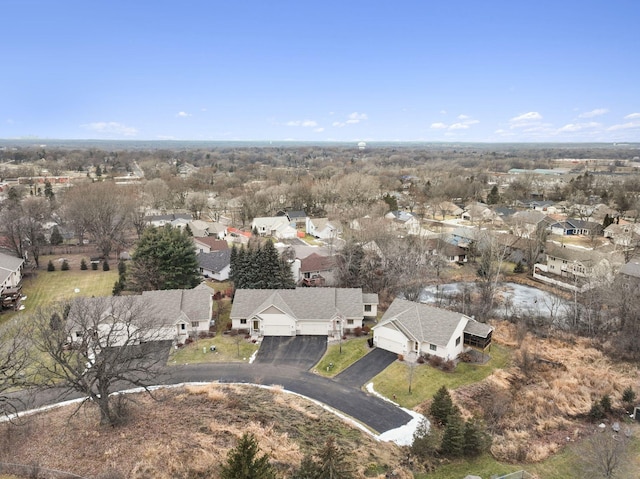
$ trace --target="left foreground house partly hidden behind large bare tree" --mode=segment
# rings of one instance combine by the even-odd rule
[[[212,326],[213,293],[201,284],[137,296],[77,298],[67,317],[69,339],[81,341],[97,323],[101,347],[166,340],[183,344]]]

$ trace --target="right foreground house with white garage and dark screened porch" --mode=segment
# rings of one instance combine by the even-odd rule
[[[462,313],[396,298],[373,327],[373,344],[408,360],[425,355],[450,360],[470,348],[484,351],[492,332]]]

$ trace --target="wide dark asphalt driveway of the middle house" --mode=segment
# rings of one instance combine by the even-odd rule
[[[254,364],[311,369],[327,351],[326,336],[265,336]]]

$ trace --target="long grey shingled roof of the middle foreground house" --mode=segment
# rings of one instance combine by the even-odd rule
[[[249,318],[275,306],[297,319],[362,318],[360,288],[238,289],[231,318]]]

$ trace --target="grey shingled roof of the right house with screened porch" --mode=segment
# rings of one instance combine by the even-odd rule
[[[493,328],[454,311],[396,298],[374,329],[391,327],[408,338],[446,346],[453,333],[464,322],[464,332],[487,337]]]

